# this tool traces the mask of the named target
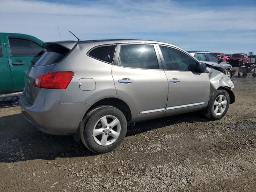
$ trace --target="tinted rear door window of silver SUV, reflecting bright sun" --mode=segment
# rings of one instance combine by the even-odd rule
[[[118,65],[132,68],[159,69],[153,45],[121,45]]]

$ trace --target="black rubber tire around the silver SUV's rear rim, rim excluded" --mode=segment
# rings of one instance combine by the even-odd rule
[[[114,116],[118,118],[120,122],[120,134],[118,138],[110,145],[102,146],[97,144],[94,140],[93,130],[95,124],[100,120],[100,118],[104,116]],[[115,148],[117,148],[122,141],[127,132],[127,121],[124,114],[118,109],[113,106],[98,106],[97,108],[92,109],[88,114],[86,114],[85,122],[83,126],[83,130],[81,131],[81,140],[90,151],[94,153],[107,153]]]

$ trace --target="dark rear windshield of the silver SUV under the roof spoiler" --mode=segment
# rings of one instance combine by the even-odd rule
[[[54,45],[40,56],[36,61],[35,66],[45,66],[60,62],[70,52],[69,49],[59,45]]]

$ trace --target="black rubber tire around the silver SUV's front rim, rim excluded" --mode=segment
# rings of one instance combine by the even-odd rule
[[[226,108],[224,110],[224,112],[221,115],[216,115],[214,113],[214,102],[215,100],[218,98],[218,96],[220,95],[224,95],[226,97]],[[230,103],[230,97],[229,94],[226,90],[223,89],[219,89],[216,90],[213,94],[212,97],[210,98],[210,101],[208,102],[208,106],[203,110],[203,114],[206,118],[210,119],[210,120],[219,120],[222,117],[225,116],[225,114],[228,111],[229,108],[229,103]]]

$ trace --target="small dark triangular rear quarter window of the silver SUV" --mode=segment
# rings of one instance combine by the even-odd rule
[[[115,45],[100,46],[98,48],[93,49],[89,53],[89,55],[98,60],[112,63],[114,59],[115,49],[116,49]]]

